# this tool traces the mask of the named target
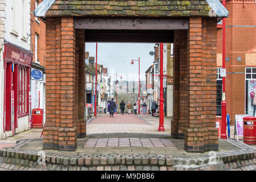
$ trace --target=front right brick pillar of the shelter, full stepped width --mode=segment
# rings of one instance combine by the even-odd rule
[[[188,31],[188,125],[185,150],[218,150],[216,128],[216,19],[190,18]]]

